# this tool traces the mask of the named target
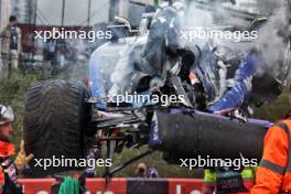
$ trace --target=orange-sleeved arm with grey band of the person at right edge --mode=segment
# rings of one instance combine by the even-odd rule
[[[271,127],[265,137],[262,160],[256,173],[256,184],[250,193],[279,193],[287,162],[288,134],[281,127]]]

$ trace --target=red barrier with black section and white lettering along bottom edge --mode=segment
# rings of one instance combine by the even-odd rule
[[[20,179],[25,194],[51,194],[54,179]],[[201,194],[203,180],[198,179],[87,179],[88,194]]]

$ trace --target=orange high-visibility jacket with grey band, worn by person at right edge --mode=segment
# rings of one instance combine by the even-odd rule
[[[251,194],[291,194],[291,119],[271,127]]]

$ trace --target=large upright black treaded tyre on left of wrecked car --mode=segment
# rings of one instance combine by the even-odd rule
[[[37,83],[28,89],[23,133],[25,152],[34,154],[32,176],[79,169],[75,163],[86,152],[87,96],[82,84],[64,80]],[[71,162],[64,163],[67,159]]]

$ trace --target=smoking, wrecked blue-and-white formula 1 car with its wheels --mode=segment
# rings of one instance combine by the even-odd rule
[[[259,51],[241,53],[208,42],[181,47],[176,25],[169,22],[177,18],[179,9],[162,8],[152,21],[149,15],[142,21],[143,26],[151,23],[149,31],[98,47],[89,62],[87,87],[65,80],[32,85],[24,117],[26,152],[36,159],[80,159],[106,142],[107,158],[125,146],[148,144],[150,151],[137,159],[151,150],[164,152],[172,162],[197,155],[260,159],[266,129],[272,123],[249,119],[249,105],[281,94],[289,62],[283,75],[257,74],[256,66],[263,61]],[[125,100],[125,95],[148,98]],[[164,96],[175,100],[162,100]],[[107,173],[112,175],[131,161]],[[35,161],[31,168],[35,176],[75,169],[43,171]]]

